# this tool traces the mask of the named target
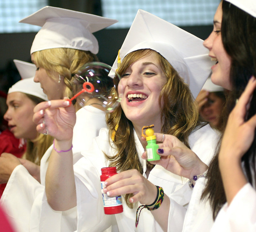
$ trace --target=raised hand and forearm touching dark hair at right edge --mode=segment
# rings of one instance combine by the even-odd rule
[[[220,146],[219,167],[228,204],[247,183],[241,158],[255,140],[256,115],[246,122],[244,118],[250,104],[255,104],[251,102],[255,87],[255,77],[252,77],[228,117]]]

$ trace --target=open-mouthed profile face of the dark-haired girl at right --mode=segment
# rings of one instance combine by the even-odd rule
[[[231,90],[229,79],[231,59],[225,51],[221,39],[222,2],[219,4],[213,20],[213,31],[204,40],[204,46],[209,49],[209,56],[216,64],[212,66],[211,80],[214,84]]]

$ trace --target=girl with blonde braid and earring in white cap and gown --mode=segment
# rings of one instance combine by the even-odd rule
[[[42,27],[36,34],[30,50],[31,60],[36,65],[34,81],[39,82],[48,99],[53,100],[73,96],[72,84],[75,74],[86,63],[98,61],[96,54],[99,45],[92,33],[112,25],[117,20],[45,6],[20,22]],[[76,111],[78,124],[73,131],[72,163],[76,163],[81,157],[81,148],[90,146],[92,138],[99,134],[102,127],[106,127],[105,112],[102,110],[91,105],[81,108],[76,104]],[[46,131],[45,134],[47,133]],[[52,149],[53,144],[42,157],[40,167],[31,165],[25,169],[21,165],[17,166],[12,172],[12,181],[7,183],[8,191],[5,189],[5,198],[2,198],[0,203],[5,205],[8,218],[20,231],[39,230],[41,209],[49,215],[49,221],[43,226],[43,231],[75,230],[70,227],[69,220],[76,218],[76,212],[56,212],[47,204],[42,206],[45,173]],[[19,176],[18,179],[16,175]],[[34,177],[40,179],[40,183],[35,181]],[[17,191],[20,192],[19,196]],[[66,220],[61,220],[62,214],[66,216]]]

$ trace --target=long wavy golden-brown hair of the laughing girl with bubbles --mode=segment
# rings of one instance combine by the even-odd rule
[[[198,108],[194,103],[188,85],[183,82],[171,64],[158,52],[151,49],[141,49],[125,56],[117,72],[122,76],[132,63],[151,53],[156,54],[167,77],[167,82],[163,85],[158,100],[159,106],[162,106],[161,133],[172,134],[189,147],[188,136],[196,126],[200,125]],[[115,77],[114,82],[117,86],[119,79]],[[112,93],[118,96],[116,89],[113,89]],[[117,107],[114,112],[107,114],[106,120],[109,128],[109,138],[115,134],[113,142],[117,150],[115,156],[107,156],[108,160],[111,161],[110,166],[116,166],[119,171],[137,169],[140,173],[143,173],[136,151],[133,125],[126,118],[121,106]],[[124,199],[126,204],[133,208],[133,204],[129,202],[131,196],[132,194],[125,194]]]

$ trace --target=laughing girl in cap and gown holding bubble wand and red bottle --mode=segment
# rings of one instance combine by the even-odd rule
[[[46,174],[47,201],[54,210],[77,206],[77,220],[73,220],[77,231],[103,231],[109,226],[112,231],[135,231],[137,206],[154,202],[159,189],[155,185],[161,186],[165,193],[161,206],[141,212],[137,231],[162,231],[161,220],[167,219],[168,214],[161,212],[169,209],[171,201],[167,196],[174,195],[173,204],[188,204],[191,191],[180,176],[141,160],[146,147],[140,139],[141,129],[154,124],[156,132],[177,135],[205,162],[210,160],[206,151],[214,147],[217,135],[198,120],[193,96],[209,75],[211,61],[202,40],[143,10],[138,11],[119,54],[117,72],[122,78],[118,83],[115,77],[118,89],[113,93],[124,96],[121,106],[107,115],[108,129],[100,130],[74,167],[70,149],[74,107],[67,106],[64,100],[52,100],[35,108],[38,132],[45,133],[48,127],[49,134],[55,137],[56,149],[52,150]],[[100,169],[106,166],[115,166],[120,172],[106,180],[108,184],[103,189],[108,196],[124,196],[124,212],[116,215],[104,215],[103,211]],[[43,223],[48,216],[41,216]],[[182,227],[183,220],[181,217],[173,221],[173,228]]]

